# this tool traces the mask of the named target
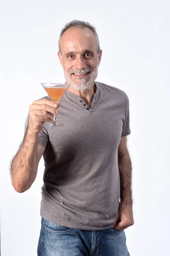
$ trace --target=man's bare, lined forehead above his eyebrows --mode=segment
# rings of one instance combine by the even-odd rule
[[[91,29],[79,27],[69,28],[64,32],[60,41],[62,52],[96,50],[97,41]]]

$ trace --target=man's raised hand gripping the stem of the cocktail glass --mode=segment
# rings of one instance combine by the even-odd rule
[[[57,105],[50,99],[35,100],[32,105],[29,106],[29,122],[28,129],[31,132],[40,132],[42,130],[44,122],[52,122],[54,114],[58,114]]]

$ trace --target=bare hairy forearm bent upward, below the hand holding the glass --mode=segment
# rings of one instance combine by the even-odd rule
[[[29,189],[36,178],[38,134],[27,130],[23,145],[11,164],[12,185],[17,192]]]

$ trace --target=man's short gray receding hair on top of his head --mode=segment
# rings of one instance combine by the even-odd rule
[[[61,33],[59,35],[59,42],[58,42],[58,44],[59,44],[59,52],[62,53],[61,52],[61,47],[60,47],[60,41],[61,41],[62,35],[64,34],[64,32],[67,29],[69,29],[69,28],[71,28],[73,26],[77,26],[77,27],[79,27],[81,29],[84,29],[84,28],[91,29],[91,31],[94,33],[94,36],[95,36],[96,41],[97,41],[97,52],[99,52],[100,45],[99,45],[99,37],[97,35],[96,28],[93,25],[91,25],[89,22],[81,21],[81,20],[71,20],[70,22],[65,24],[65,27],[62,29],[62,31],[61,31]]]

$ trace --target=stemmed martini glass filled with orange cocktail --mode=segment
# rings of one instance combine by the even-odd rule
[[[50,98],[58,104],[59,100],[68,89],[70,84],[42,83],[42,86],[44,87]],[[53,122],[47,122],[47,124],[50,126],[63,126],[58,122],[56,114],[54,114]]]

